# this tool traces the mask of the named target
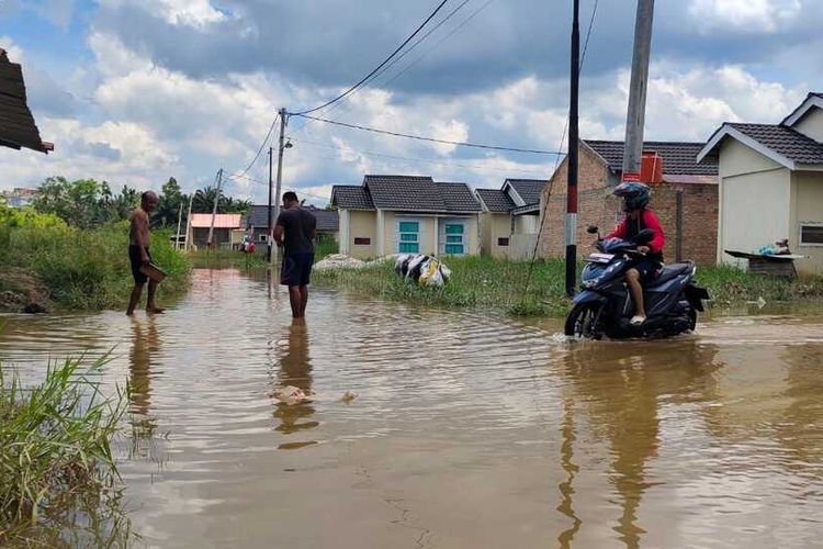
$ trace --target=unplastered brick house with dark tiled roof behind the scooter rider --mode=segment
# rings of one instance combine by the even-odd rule
[[[650,209],[661,220],[666,234],[666,261],[691,259],[712,265],[717,258],[718,165],[698,163],[703,143],[650,141],[643,155],[662,170],[645,169],[643,182],[652,187]],[[624,144],[620,141],[580,139],[577,183],[577,253],[591,251],[588,225],[611,231],[622,220],[622,203],[611,194],[622,180]],[[651,164],[645,164],[651,166]],[[565,254],[567,159],[545,187],[541,199],[546,219],[542,222],[541,257]]]

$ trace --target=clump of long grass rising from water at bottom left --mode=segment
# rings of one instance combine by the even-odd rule
[[[111,439],[125,394],[101,396],[104,359],[67,360],[24,389],[0,368],[0,546],[111,546],[131,536]]]

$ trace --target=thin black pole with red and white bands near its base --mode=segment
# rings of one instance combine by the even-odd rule
[[[568,179],[566,182],[566,293],[574,295],[577,278],[577,137],[580,81],[580,1],[574,0],[572,66],[568,101]]]

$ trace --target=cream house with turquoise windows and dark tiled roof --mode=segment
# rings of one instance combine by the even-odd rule
[[[367,175],[362,184],[335,186],[331,204],[339,212],[340,253],[351,257],[480,251],[481,206],[465,183]]]

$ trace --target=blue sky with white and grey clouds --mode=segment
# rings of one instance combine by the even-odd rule
[[[0,149],[0,188],[45,177],[185,190],[241,173],[280,107],[335,97],[438,0],[0,0],[0,47],[23,65],[48,156]],[[584,37],[595,0],[582,0]],[[449,0],[425,41],[319,113],[452,141],[556,150],[568,103],[571,0]],[[580,135],[622,139],[634,0],[599,0]],[[448,18],[448,19],[447,19]],[[723,121],[778,122],[823,89],[820,0],[657,0],[647,139],[704,141]],[[414,44],[414,42],[413,42]],[[325,203],[363,173],[497,187],[555,159],[414,142],[292,117],[284,188]],[[263,203],[268,157],[228,182]]]

